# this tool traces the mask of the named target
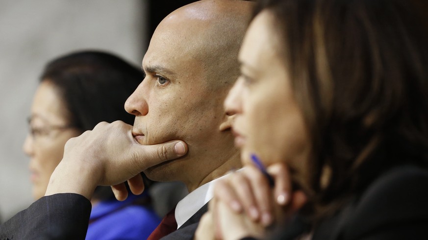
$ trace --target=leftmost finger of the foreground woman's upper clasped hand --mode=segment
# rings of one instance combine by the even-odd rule
[[[243,210],[242,204],[238,201],[236,193],[230,188],[226,179],[219,179],[214,187],[214,198],[225,202],[230,209],[236,213],[241,213]]]

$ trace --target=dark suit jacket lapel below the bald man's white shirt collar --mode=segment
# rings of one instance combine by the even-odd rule
[[[175,232],[168,234],[161,240],[193,240],[199,221],[204,213],[208,211],[208,203],[203,205],[196,214],[191,216],[181,227]]]

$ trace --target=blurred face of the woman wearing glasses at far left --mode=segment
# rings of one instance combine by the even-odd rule
[[[81,132],[68,127],[67,110],[49,81],[40,83],[34,95],[29,120],[30,133],[23,150],[30,157],[30,180],[33,197],[45,195],[50,175],[64,154],[64,145]]]

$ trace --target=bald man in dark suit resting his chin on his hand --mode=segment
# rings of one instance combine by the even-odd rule
[[[1,226],[1,239],[84,238],[95,187],[112,185],[124,199],[126,180],[132,192],[144,190],[141,171],[185,183],[190,193],[175,210],[178,230],[164,239],[193,239],[212,183],[241,166],[223,101],[238,76],[251,8],[249,1],[203,0],[168,15],[144,56],[146,77],[125,104],[134,126],[103,122],[67,142],[45,197]]]

